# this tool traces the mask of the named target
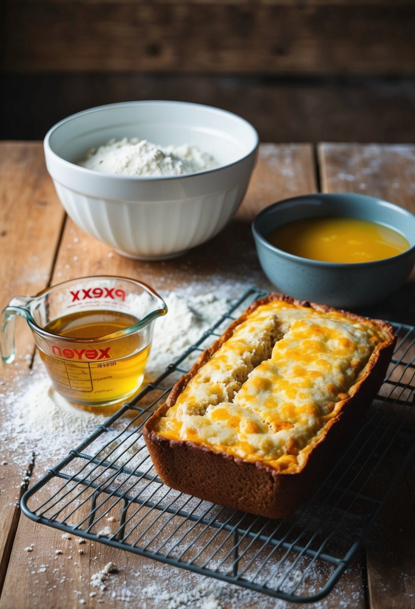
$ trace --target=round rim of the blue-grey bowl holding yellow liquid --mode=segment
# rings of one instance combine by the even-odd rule
[[[362,269],[363,267],[375,267],[382,266],[388,263],[389,261],[396,261],[400,258],[406,258],[410,255],[415,254],[415,243],[411,245],[405,252],[401,252],[400,254],[396,254],[395,256],[389,256],[388,258],[380,258],[379,260],[371,260],[368,262],[327,262],[325,260],[314,260],[312,258],[303,258],[302,256],[296,256],[295,254],[291,254],[289,252],[285,252],[281,250],[276,245],[271,244],[263,234],[260,232],[258,228],[258,224],[263,216],[272,213],[273,209],[277,208],[281,203],[292,203],[295,205],[296,203],[304,203],[306,200],[310,199],[366,199],[371,200],[373,203],[386,203],[389,208],[394,209],[395,211],[399,211],[399,213],[404,213],[408,217],[411,217],[413,222],[415,222],[415,215],[409,211],[408,209],[397,205],[397,203],[392,203],[391,201],[387,201],[386,199],[381,199],[380,197],[373,197],[371,195],[360,194],[358,192],[313,192],[311,194],[299,195],[297,197],[289,197],[288,199],[281,199],[281,201],[277,201],[275,203],[271,203],[267,207],[263,208],[257,216],[254,218],[251,224],[251,230],[253,233],[254,241],[259,242],[262,247],[267,248],[270,252],[277,253],[282,258],[288,259],[291,262],[299,262],[304,264],[305,266],[314,266],[314,267],[322,267],[324,268],[333,268],[333,269]],[[372,220],[374,222],[374,220]],[[378,222],[377,224],[381,224]],[[396,230],[396,229],[395,229]],[[398,231],[399,232],[399,231]],[[405,239],[408,239],[406,235],[403,235]]]

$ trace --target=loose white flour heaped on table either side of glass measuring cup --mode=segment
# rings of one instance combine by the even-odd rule
[[[150,380],[164,372],[229,306],[227,300],[214,294],[183,297],[171,292],[165,300],[169,312],[155,323],[146,368]],[[14,386],[18,387],[18,379]],[[22,466],[31,462],[33,453],[42,461],[65,456],[107,418],[78,409],[61,398],[43,368],[33,373],[29,384],[26,376],[21,390],[11,392],[4,383],[0,393],[4,404],[0,442],[7,440],[10,457]]]

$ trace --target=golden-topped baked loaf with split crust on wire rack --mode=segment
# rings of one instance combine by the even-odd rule
[[[382,384],[388,323],[271,294],[178,381],[144,426],[162,481],[268,518],[289,515]]]

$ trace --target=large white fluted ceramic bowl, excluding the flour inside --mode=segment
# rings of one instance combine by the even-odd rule
[[[104,174],[76,163],[110,139],[197,146],[218,161],[173,177]],[[252,125],[200,104],[110,104],[58,122],[44,138],[46,166],[68,215],[86,233],[130,258],[178,256],[217,234],[242,202],[257,157]]]

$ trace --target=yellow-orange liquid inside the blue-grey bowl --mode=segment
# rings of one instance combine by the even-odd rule
[[[267,239],[284,252],[325,262],[371,262],[410,247],[397,231],[357,218],[296,220],[276,228]]]

